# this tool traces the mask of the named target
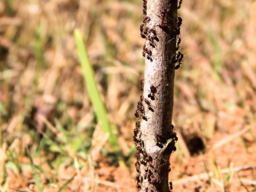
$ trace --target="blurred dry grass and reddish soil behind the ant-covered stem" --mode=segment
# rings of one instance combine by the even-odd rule
[[[136,191],[142,3],[0,1],[1,191]],[[256,166],[256,2],[183,1],[179,14],[174,191],[255,191],[256,171],[239,169]],[[96,84],[84,82],[76,28]]]

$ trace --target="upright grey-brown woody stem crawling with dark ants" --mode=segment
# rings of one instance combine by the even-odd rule
[[[134,129],[136,180],[140,191],[168,192],[172,188],[169,187],[168,174],[170,155],[176,150],[177,140],[172,126],[177,4],[177,0],[144,0],[143,12],[150,19],[145,18],[144,26],[140,26],[142,37],[146,36],[143,51],[146,61],[140,101],[135,112],[139,120]],[[157,38],[152,40],[154,34]]]

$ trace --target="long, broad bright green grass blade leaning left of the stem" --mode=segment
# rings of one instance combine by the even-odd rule
[[[109,133],[108,142],[110,143],[110,145],[112,146],[115,152],[120,152],[118,142],[117,142],[117,137],[111,129],[110,123],[108,121],[106,109],[103,105],[103,102],[100,98],[100,93],[97,89],[97,84],[94,79],[94,72],[87,55],[84,39],[81,35],[81,32],[77,29],[75,30],[74,36],[76,40],[76,48],[78,50],[78,56],[83,68],[84,82],[87,88],[86,90],[92,102],[92,106],[94,108],[95,114],[97,116],[98,121],[101,124],[102,130],[105,133]]]

